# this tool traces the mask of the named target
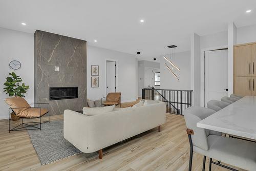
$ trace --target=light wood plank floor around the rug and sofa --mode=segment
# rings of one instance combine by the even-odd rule
[[[129,105],[125,103],[122,107]],[[184,117],[173,114],[166,114],[166,117],[160,133],[155,128],[103,149],[102,160],[98,156],[88,160],[78,154],[44,166],[27,131],[8,133],[8,120],[1,120],[0,170],[188,170],[189,143]],[[51,116],[51,120],[60,119],[62,115]],[[202,161],[201,155],[194,154],[193,170],[202,170]],[[227,169],[212,165],[212,170]]]

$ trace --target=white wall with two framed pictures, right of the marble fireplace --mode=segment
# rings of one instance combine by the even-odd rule
[[[97,100],[106,96],[106,59],[117,60],[117,91],[122,93],[121,101],[136,100],[136,56],[94,46],[87,46],[87,98]],[[99,66],[99,88],[91,88],[91,65]]]

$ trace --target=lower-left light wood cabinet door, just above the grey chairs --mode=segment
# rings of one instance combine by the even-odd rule
[[[256,81],[256,79],[254,81]],[[236,77],[235,78],[235,94],[240,96],[247,96],[247,95],[251,96],[252,89],[253,89],[252,83],[253,83],[252,77]]]

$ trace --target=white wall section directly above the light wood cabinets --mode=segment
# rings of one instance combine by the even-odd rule
[[[237,44],[256,41],[256,25],[237,28]]]

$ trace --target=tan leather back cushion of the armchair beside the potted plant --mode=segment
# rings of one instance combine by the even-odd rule
[[[13,112],[16,115],[25,111],[28,108],[31,108],[28,102],[22,97],[7,98],[5,99],[5,102],[10,106],[10,108],[20,108],[20,109],[13,109]]]

